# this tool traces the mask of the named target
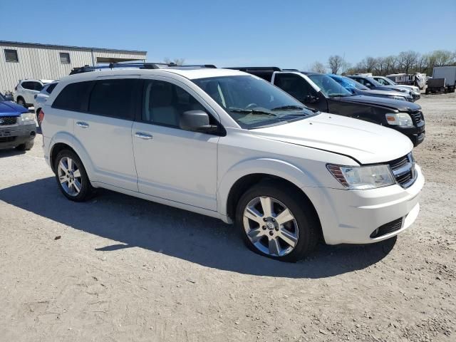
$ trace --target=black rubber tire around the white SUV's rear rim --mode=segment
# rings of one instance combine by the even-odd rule
[[[68,194],[66,190],[63,188],[63,185],[61,185],[61,182],[58,178],[58,164],[63,158],[66,157],[71,158],[71,160],[73,160],[73,162],[76,164],[77,169],[81,172],[81,191],[78,193],[78,195]],[[56,173],[57,185],[66,198],[74,202],[85,202],[93,196],[93,187],[90,184],[90,180],[88,179],[86,168],[84,167],[83,162],[81,162],[81,159],[78,157],[78,155],[76,155],[75,152],[71,150],[62,150],[61,152],[58,152],[54,164],[54,171]]]

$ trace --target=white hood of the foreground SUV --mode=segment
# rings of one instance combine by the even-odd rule
[[[250,132],[261,138],[348,155],[361,164],[388,162],[413,148],[409,138],[391,128],[328,113]]]

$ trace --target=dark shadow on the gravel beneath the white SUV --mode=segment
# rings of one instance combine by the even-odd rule
[[[311,257],[289,264],[250,252],[234,226],[218,219],[108,190],[99,190],[88,202],[71,202],[53,177],[1,189],[0,200],[116,242],[97,247],[97,252],[140,247],[202,266],[258,276],[316,279],[364,269],[383,259],[396,241],[336,247],[321,244]]]

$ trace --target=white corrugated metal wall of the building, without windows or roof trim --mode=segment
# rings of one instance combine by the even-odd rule
[[[5,49],[16,50],[19,63],[6,62]],[[60,61],[60,52],[70,54],[69,64]],[[93,51],[95,63],[97,57],[145,60],[146,53],[130,51]],[[20,44],[4,45],[0,43],[0,92],[14,90],[19,80],[26,78],[58,80],[67,76],[72,68],[92,65],[92,52],[90,49],[29,46]]]

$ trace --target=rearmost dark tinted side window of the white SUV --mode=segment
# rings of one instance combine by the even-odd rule
[[[87,100],[90,89],[93,86],[93,81],[78,82],[68,84],[57,95],[56,100],[52,104],[52,108],[86,111]]]

